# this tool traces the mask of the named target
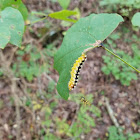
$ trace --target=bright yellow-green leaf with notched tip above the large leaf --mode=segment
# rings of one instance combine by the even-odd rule
[[[51,18],[65,20],[65,21],[75,23],[75,22],[77,22],[77,20],[71,19],[71,18],[69,18],[69,16],[76,15],[76,14],[77,14],[76,11],[62,10],[59,12],[51,13],[48,16]]]

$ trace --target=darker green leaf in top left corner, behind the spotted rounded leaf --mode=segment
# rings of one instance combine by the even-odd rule
[[[22,0],[1,0],[0,1],[0,10],[5,9],[6,7],[13,7],[15,9],[18,9],[24,20],[28,17],[28,10],[26,6],[23,4]]]

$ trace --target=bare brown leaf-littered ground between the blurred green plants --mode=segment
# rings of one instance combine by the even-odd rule
[[[49,0],[24,0],[24,3],[29,11],[43,11],[46,9],[51,9],[52,11],[61,10],[61,7],[57,3],[52,3]],[[93,3],[93,5],[91,3]],[[89,15],[89,13],[101,13],[104,11],[104,9],[99,7],[97,0],[83,0],[81,2],[78,0],[72,0],[69,10],[74,9],[75,7],[80,9],[82,17]],[[59,24],[59,21],[57,20],[54,20],[53,22],[56,25]],[[37,23],[33,27],[34,32],[36,32],[40,26],[43,26],[43,24]],[[62,34],[60,33],[62,33],[64,30],[66,30],[66,28],[61,27],[61,29],[58,31],[59,33],[53,40],[57,40],[57,38],[62,39]],[[46,42],[49,42],[47,39],[39,42],[39,39],[36,38],[34,34],[26,31],[23,38],[24,44],[30,42],[29,40],[32,40],[32,42],[39,48],[42,48]],[[61,41],[62,40],[60,39],[56,41],[56,48],[60,47]],[[116,42],[116,44],[118,48],[126,48],[125,51],[127,53],[131,53],[128,44],[124,43],[123,40]],[[7,62],[9,61],[11,51],[14,51],[14,49],[10,45],[3,51]],[[120,81],[115,80],[112,75],[106,76],[101,71],[101,67],[104,65],[102,59],[102,55],[104,54],[105,50],[102,48],[96,48],[88,53],[87,61],[80,72],[79,83],[74,91],[70,93],[74,94],[81,92],[85,95],[93,94],[94,102],[92,104],[101,109],[101,119],[95,120],[96,127],[92,128],[91,132],[84,136],[85,140],[96,140],[97,138],[104,139],[108,127],[115,125],[104,104],[105,97],[109,99],[109,105],[114,111],[119,125],[125,128],[124,133],[140,133],[140,125],[137,125],[138,122],[140,122],[140,75],[138,75],[137,81],[131,81],[130,86],[122,86]],[[12,59],[10,59],[10,63],[14,63],[15,59],[16,55],[14,54]],[[53,69],[53,59],[51,59],[50,62],[51,68],[49,78],[57,82],[59,76]],[[48,77],[42,75],[40,77],[40,81],[42,83],[41,88],[45,89],[49,82]],[[15,105],[13,105],[13,98],[18,98],[18,100],[22,102],[21,104],[24,104],[24,96],[27,97],[29,95],[27,95],[26,91],[23,89],[30,87],[32,89],[31,97],[32,99],[36,99],[35,93],[37,90],[39,90],[38,78],[34,78],[31,83],[27,82],[24,78],[21,78],[16,84],[18,87],[18,91],[16,92],[19,94],[13,97],[10,88],[11,82],[5,77],[0,77],[0,140],[16,139],[16,130],[18,128],[17,120],[19,120],[19,118],[16,116],[17,113],[20,113],[20,120],[22,120],[22,122],[20,122],[21,127],[18,128],[22,135],[21,139],[37,140],[39,139],[38,129],[42,127],[39,120],[42,120],[44,115],[39,111],[33,112],[24,105],[19,106],[18,112]],[[104,95],[100,94],[101,92],[104,92]],[[56,94],[56,90],[54,94]],[[44,99],[43,104],[48,104],[52,101],[55,101],[55,99]],[[3,102],[2,105],[1,102]],[[76,105],[74,103],[59,99],[57,108],[53,110],[53,115],[61,116],[63,113],[67,114],[64,115],[65,117],[67,116],[67,118],[65,118],[67,120],[68,116],[73,113],[74,110],[76,110]],[[63,117],[63,115],[61,117]],[[38,120],[34,121],[36,118]],[[14,137],[10,138],[9,136],[11,135]]]

